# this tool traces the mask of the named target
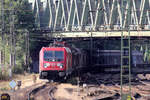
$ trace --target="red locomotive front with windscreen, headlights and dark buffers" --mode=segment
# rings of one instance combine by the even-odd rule
[[[71,51],[64,47],[44,47],[39,61],[41,79],[64,77],[71,67]]]

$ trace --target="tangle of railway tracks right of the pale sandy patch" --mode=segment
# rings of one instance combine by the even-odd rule
[[[86,77],[85,77],[86,76]],[[86,74],[83,82],[88,87],[88,93],[83,100],[119,100],[120,99],[120,74]],[[149,75],[131,76],[133,100],[150,100]],[[91,84],[94,87],[91,88]],[[102,95],[102,94],[105,95]],[[91,98],[91,99],[87,99]]]

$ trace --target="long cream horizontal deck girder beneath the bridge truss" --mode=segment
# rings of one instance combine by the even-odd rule
[[[121,37],[121,31],[101,31],[101,32],[54,32],[52,37],[71,38],[71,37]],[[127,34],[124,31],[124,34]],[[131,37],[150,37],[150,31],[130,31]]]

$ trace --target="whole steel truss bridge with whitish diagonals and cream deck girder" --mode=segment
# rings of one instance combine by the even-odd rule
[[[131,36],[150,36],[150,0],[131,0],[130,5],[127,0],[29,2],[36,16],[36,24],[42,30],[56,33],[55,36],[116,37],[121,36],[122,28],[124,32],[130,28]],[[130,22],[128,17],[131,18]]]

